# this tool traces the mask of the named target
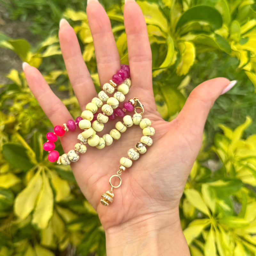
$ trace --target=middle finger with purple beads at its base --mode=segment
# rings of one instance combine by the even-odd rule
[[[110,20],[97,0],[87,1],[87,18],[92,33],[100,84],[103,85],[121,68]]]

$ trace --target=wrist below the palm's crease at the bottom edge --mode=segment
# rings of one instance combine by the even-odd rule
[[[178,211],[151,213],[108,228],[107,256],[189,256]]]

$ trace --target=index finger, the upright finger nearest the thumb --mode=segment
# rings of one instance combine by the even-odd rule
[[[144,92],[146,102],[155,102],[152,90],[152,54],[147,25],[139,5],[134,0],[125,1],[124,26],[132,86]],[[142,100],[143,94],[142,97],[140,96]],[[155,104],[147,107],[156,109]]]

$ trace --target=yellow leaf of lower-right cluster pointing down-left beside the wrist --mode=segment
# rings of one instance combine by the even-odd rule
[[[210,223],[211,221],[209,219],[199,219],[192,221],[188,225],[188,228],[183,230],[188,245],[190,245],[193,240],[198,237],[202,233],[204,228],[206,228]]]

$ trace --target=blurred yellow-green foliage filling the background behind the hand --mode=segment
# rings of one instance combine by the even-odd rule
[[[175,118],[189,92],[204,80],[216,76],[238,80],[210,111],[203,146],[180,201],[191,255],[256,255],[255,1],[137,2],[148,24],[155,99],[165,120]],[[1,50],[38,67],[71,114],[78,116],[57,33],[59,20],[65,17],[75,28],[99,88],[85,1],[0,3],[10,24],[29,25],[25,30],[29,42],[12,38],[15,28],[10,33],[9,23],[2,26]],[[101,3],[120,58],[127,63],[124,3]],[[46,159],[42,144],[52,125],[29,91],[24,73],[21,68],[10,69],[6,77],[0,87],[0,256],[105,255],[98,216],[69,167]]]

